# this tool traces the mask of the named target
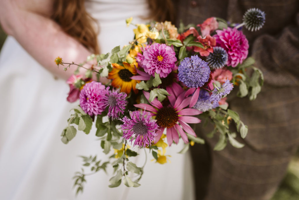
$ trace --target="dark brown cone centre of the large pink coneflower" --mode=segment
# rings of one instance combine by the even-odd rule
[[[161,108],[156,116],[157,124],[163,128],[171,128],[179,120],[178,113],[171,107]]]

